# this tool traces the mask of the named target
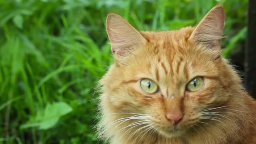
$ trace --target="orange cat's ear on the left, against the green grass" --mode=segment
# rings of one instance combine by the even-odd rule
[[[111,51],[116,60],[127,56],[131,50],[147,42],[131,24],[115,13],[108,14],[106,28]]]

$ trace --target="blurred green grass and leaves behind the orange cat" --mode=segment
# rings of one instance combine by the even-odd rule
[[[0,0],[0,143],[96,144],[107,13],[139,30],[194,26],[224,5],[223,55],[243,76],[247,0]]]

